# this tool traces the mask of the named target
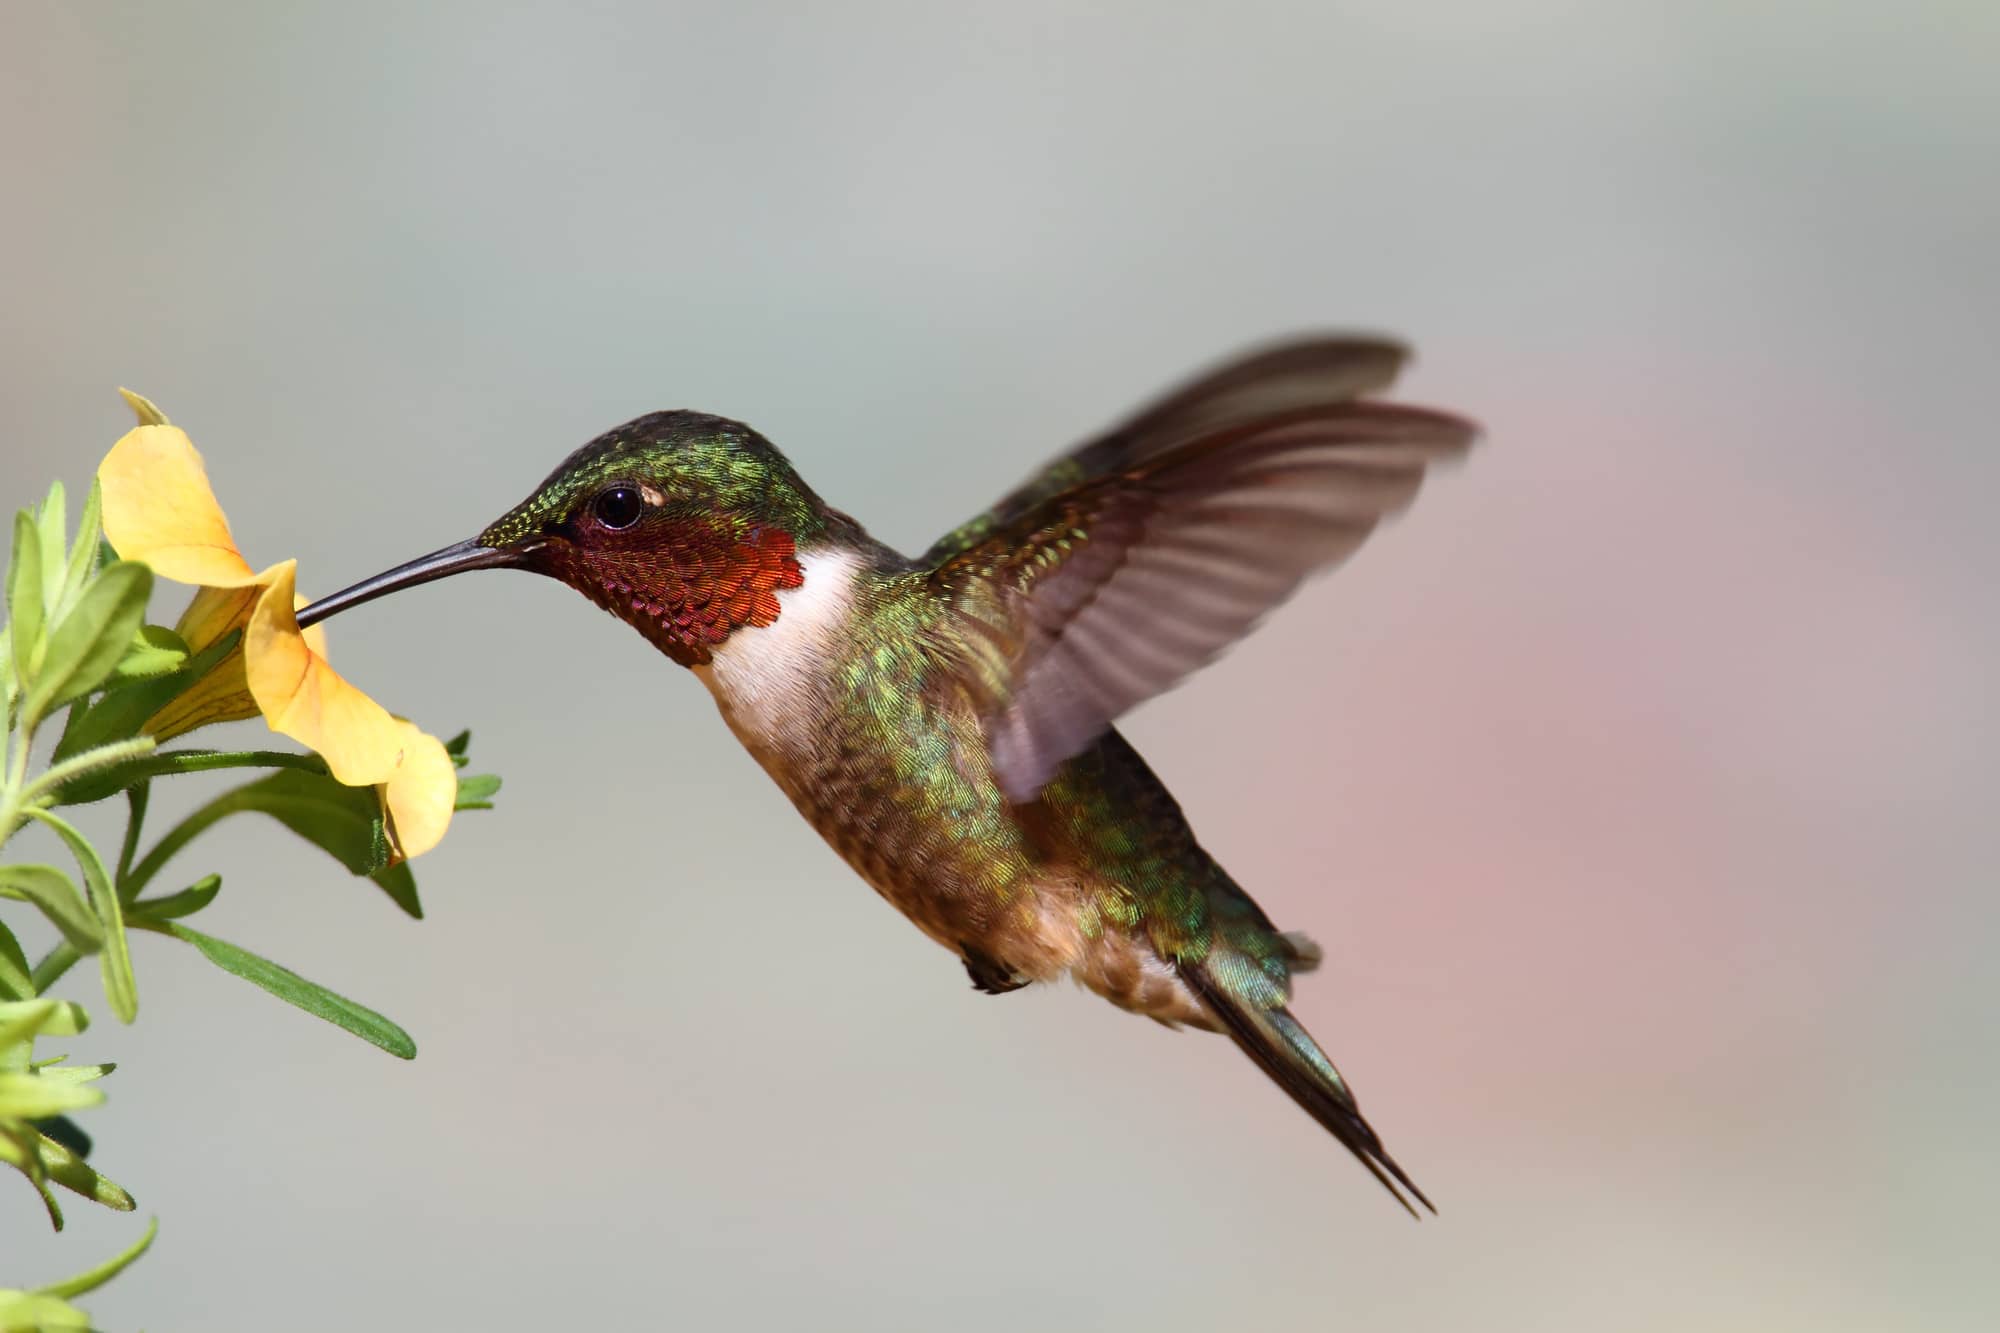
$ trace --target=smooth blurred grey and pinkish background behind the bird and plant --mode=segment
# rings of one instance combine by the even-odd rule
[[[1304,326],[1488,428],[1128,727],[1440,1219],[1222,1041],[974,995],[692,679],[480,574],[332,626],[506,775],[428,921],[276,827],[182,867],[422,1055],[138,941],[102,1325],[1992,1327],[1996,56],[1984,0],[0,4],[8,504],[130,384],[308,590],[660,406],[904,548]],[[4,1203],[0,1285],[140,1229]]]

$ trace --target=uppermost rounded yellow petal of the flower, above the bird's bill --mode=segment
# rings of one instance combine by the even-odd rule
[[[178,426],[138,426],[98,464],[104,540],[174,582],[240,588],[256,582],[208,486],[208,468]]]

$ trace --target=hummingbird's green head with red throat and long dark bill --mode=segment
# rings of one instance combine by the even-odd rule
[[[312,624],[468,568],[570,584],[674,660],[706,662],[746,624],[778,618],[798,550],[838,522],[764,436],[702,412],[652,412],[600,434],[476,538],[320,598]]]

